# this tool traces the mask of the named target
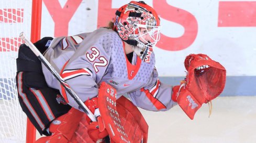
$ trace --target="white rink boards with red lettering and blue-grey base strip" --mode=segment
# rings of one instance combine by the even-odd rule
[[[29,33],[31,6],[12,5],[3,1],[3,9],[24,10],[23,21],[9,22],[0,15],[0,40],[18,39],[21,30]],[[17,1],[17,0],[16,0]],[[21,0],[20,0],[21,1]],[[22,0],[27,2],[27,0]],[[31,1],[31,0],[30,0]],[[129,1],[119,0],[42,0],[41,37],[70,36],[92,32],[106,26],[115,16],[117,8]],[[156,68],[169,84],[179,84],[185,76],[184,59],[189,54],[207,54],[227,70],[227,83],[223,94],[255,95],[256,81],[256,1],[211,0],[147,0],[161,18],[161,40],[154,48]],[[6,5],[8,3],[8,5]],[[14,18],[13,18],[14,19]],[[28,24],[26,24],[28,25]],[[14,32],[12,32],[14,31]],[[29,34],[27,34],[29,36]],[[21,42],[21,41],[18,41]],[[2,44],[2,45],[1,45]],[[8,51],[0,44],[0,56]],[[0,58],[1,65],[13,57]],[[10,64],[5,64],[8,67]],[[12,66],[11,66],[12,67]],[[15,67],[12,67],[15,75]],[[0,79],[9,78],[5,68]],[[170,77],[170,78],[169,78]],[[173,79],[174,78],[174,79]],[[248,86],[249,85],[249,86]],[[234,90],[236,89],[236,90]]]

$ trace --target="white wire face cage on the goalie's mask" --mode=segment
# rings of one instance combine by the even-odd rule
[[[141,33],[140,28],[146,29],[146,32]],[[142,47],[141,47],[142,49],[144,49],[145,47],[153,48],[157,44],[157,42],[160,40],[161,26],[135,24],[135,29],[138,29],[138,36],[135,36],[135,40],[139,43],[138,47],[140,47],[139,45],[142,45]],[[146,39],[143,38],[143,36],[145,36],[145,35],[149,35],[150,41],[147,41]]]

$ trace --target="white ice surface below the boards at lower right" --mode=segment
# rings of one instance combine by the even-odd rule
[[[212,115],[204,104],[194,120],[179,106],[166,112],[141,110],[149,125],[148,142],[256,142],[256,96],[217,97]]]

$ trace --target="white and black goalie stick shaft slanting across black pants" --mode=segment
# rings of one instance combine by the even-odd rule
[[[46,58],[40,53],[40,51],[35,47],[35,45],[27,39],[23,32],[20,33],[19,37],[25,41],[28,47],[33,51],[37,58],[47,67],[47,69],[53,74],[53,76],[60,82],[60,84],[65,88],[65,90],[74,98],[79,107],[88,115],[88,117],[95,122],[96,118],[94,114],[84,105],[84,102],[77,96],[74,90],[69,86],[68,83],[60,76],[60,74],[51,66]]]

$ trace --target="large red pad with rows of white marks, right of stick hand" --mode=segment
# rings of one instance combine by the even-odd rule
[[[148,124],[131,101],[124,96],[116,100],[116,89],[102,83],[98,106],[110,140],[113,142],[147,142]]]

